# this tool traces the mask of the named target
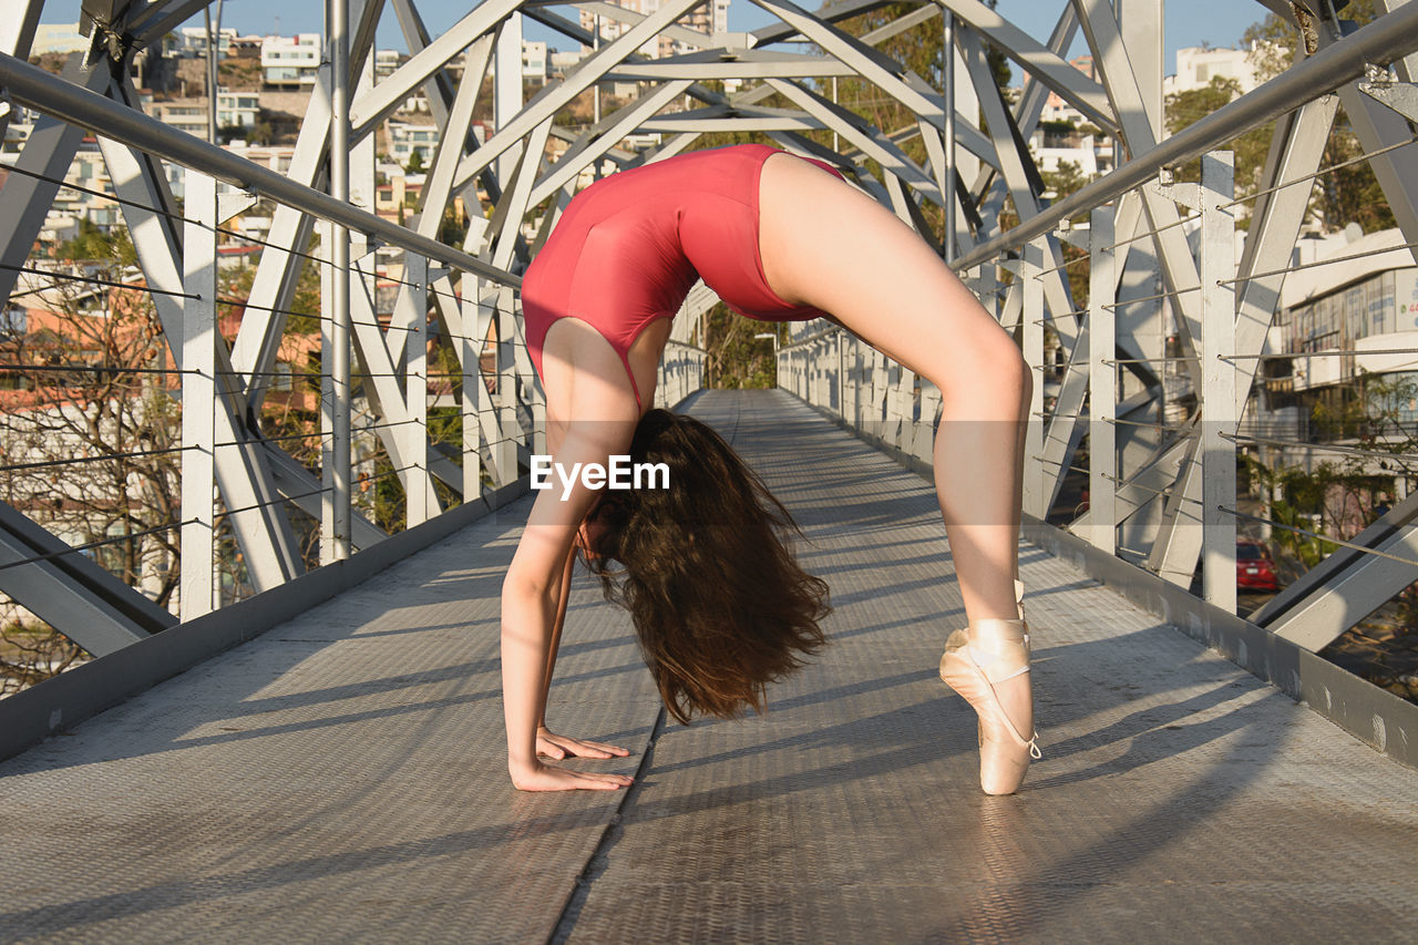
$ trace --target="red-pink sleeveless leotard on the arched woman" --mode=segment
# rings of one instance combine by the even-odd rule
[[[522,278],[527,352],[543,379],[552,325],[576,318],[611,343],[640,389],[628,352],[658,318],[674,318],[695,281],[733,311],[761,321],[822,312],[769,288],[759,254],[759,175],[767,145],[696,150],[604,177],[576,194]],[[838,177],[821,160],[814,165]]]

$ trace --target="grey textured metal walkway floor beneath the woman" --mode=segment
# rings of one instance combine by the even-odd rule
[[[513,790],[498,593],[522,498],[286,619],[254,600],[223,612],[250,626],[139,644],[254,637],[0,766],[0,938],[1409,939],[1409,768],[1025,542],[1044,759],[983,796],[973,712],[936,675],[964,617],[930,484],[784,392],[686,406],[832,589],[831,646],[767,715],[666,724],[581,575],[550,721],[628,746],[583,763],[637,783]],[[132,671],[79,667],[0,718]]]

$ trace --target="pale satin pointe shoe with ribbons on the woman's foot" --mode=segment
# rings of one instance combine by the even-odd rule
[[[1022,595],[1015,582],[1015,599]],[[1024,609],[1014,620],[977,620],[956,630],[940,658],[940,678],[980,717],[980,788],[987,795],[1012,795],[1041,758],[1038,732],[1025,738],[1000,702],[995,685],[1029,671],[1029,629]]]

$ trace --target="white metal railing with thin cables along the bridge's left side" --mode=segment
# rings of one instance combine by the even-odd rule
[[[60,78],[0,54],[9,102],[35,116],[6,206],[43,220],[88,190],[133,250],[104,271],[28,244],[0,262],[0,619],[43,620],[95,657],[454,509],[496,508],[546,451],[513,271],[520,219],[474,214],[462,248],[448,245],[438,227],[360,209],[347,183],[301,183],[347,176],[342,149],[347,165],[372,136],[311,143],[342,126],[329,122],[277,173],[116,101],[125,81],[102,58]],[[108,187],[43,148],[84,129],[98,129]],[[451,187],[459,145],[435,158],[430,190]],[[252,210],[267,230],[241,226]],[[676,335],[658,402],[698,389],[702,368]]]

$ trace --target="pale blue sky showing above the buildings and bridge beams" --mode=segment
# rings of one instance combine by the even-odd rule
[[[998,11],[1015,26],[1038,40],[1046,40],[1066,0],[1000,0]],[[45,4],[45,23],[72,23],[78,0],[50,0]],[[423,14],[428,30],[435,35],[457,23],[472,9],[469,0],[417,0],[414,4]],[[810,9],[818,4],[801,0],[800,6]],[[213,10],[216,6],[211,7]],[[224,0],[223,26],[235,27],[241,33],[285,34],[320,33],[325,4],[319,0]],[[1266,9],[1255,0],[1171,0],[1164,4],[1167,72],[1176,71],[1178,48],[1202,45],[1229,47],[1241,41],[1241,34],[1252,23],[1265,18]],[[563,11],[564,13],[564,11]],[[729,28],[736,31],[754,30],[773,21],[773,16],[754,6],[750,0],[733,0],[729,7]],[[200,26],[201,16],[191,26]],[[552,48],[573,48],[573,43],[559,33],[527,21],[525,37],[546,40]],[[379,34],[380,48],[404,50],[398,24],[391,11],[386,10]],[[1071,55],[1086,52],[1082,38]]]

